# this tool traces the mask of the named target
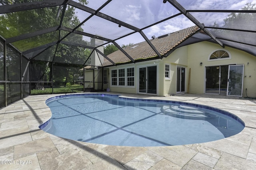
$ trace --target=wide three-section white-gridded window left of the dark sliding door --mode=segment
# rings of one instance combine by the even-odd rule
[[[111,70],[111,85],[134,88],[134,67]]]

